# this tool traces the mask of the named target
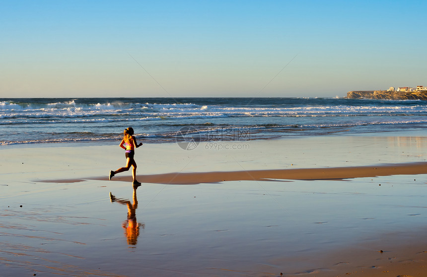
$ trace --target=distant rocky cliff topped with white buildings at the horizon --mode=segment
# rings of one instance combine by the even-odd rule
[[[347,98],[363,99],[390,99],[390,100],[427,100],[427,91],[387,91],[387,90],[363,90],[349,91]]]

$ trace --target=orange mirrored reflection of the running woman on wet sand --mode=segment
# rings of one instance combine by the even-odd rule
[[[138,200],[137,200],[137,188],[138,186],[134,186],[134,194],[132,204],[129,199],[121,199],[116,198],[110,192],[110,200],[111,203],[117,202],[128,207],[128,219],[125,220],[122,224],[122,227],[125,229],[125,236],[128,240],[129,245],[136,245],[138,243],[138,236],[140,235],[140,228],[145,228],[145,224],[137,222],[136,210],[138,208]]]

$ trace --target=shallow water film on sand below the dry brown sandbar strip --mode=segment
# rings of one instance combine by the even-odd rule
[[[402,175],[143,184],[137,205],[125,182],[9,183],[2,188],[9,196],[0,198],[0,275],[298,272],[313,266],[307,257],[349,241],[425,226],[426,182],[427,175]]]

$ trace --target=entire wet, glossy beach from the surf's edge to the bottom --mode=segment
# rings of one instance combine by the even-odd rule
[[[427,276],[426,135],[1,146],[0,276]]]

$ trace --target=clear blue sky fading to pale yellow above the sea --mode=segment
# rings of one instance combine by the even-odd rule
[[[0,97],[334,97],[427,86],[425,0],[0,2]]]

